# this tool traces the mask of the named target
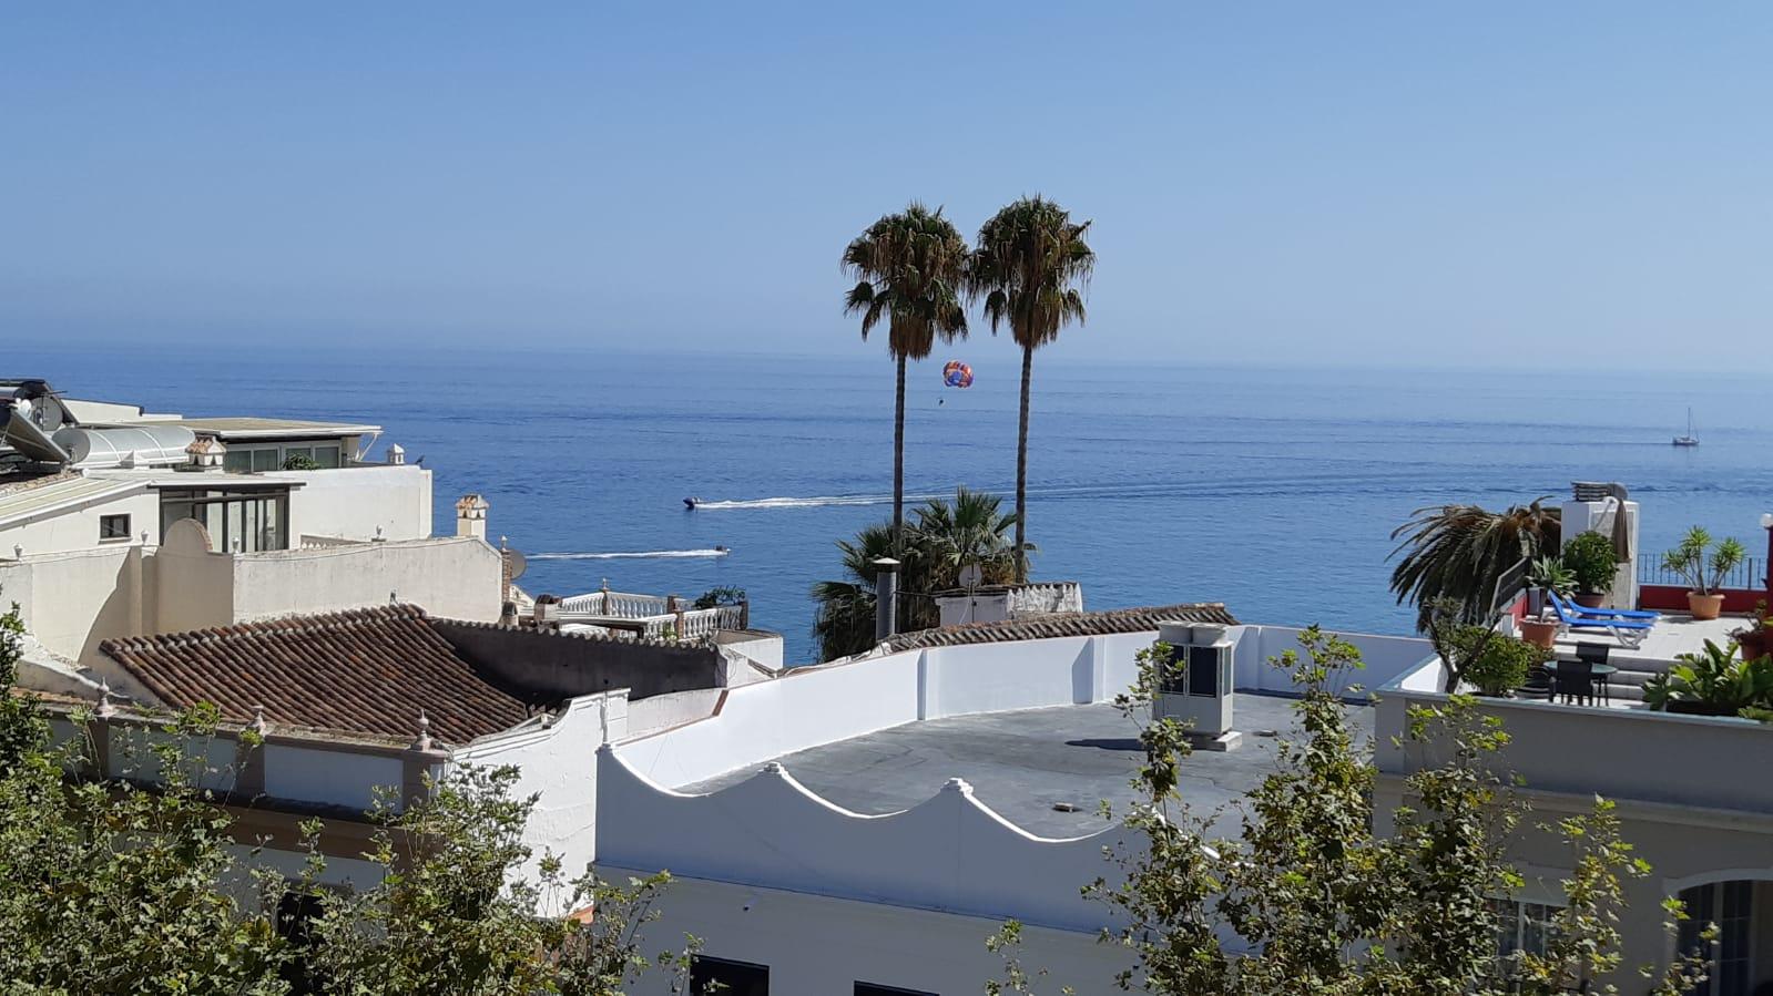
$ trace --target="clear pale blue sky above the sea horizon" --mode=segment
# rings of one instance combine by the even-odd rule
[[[1773,369],[1773,4],[0,21],[0,342],[855,353],[849,237],[1035,191],[1067,356]]]

